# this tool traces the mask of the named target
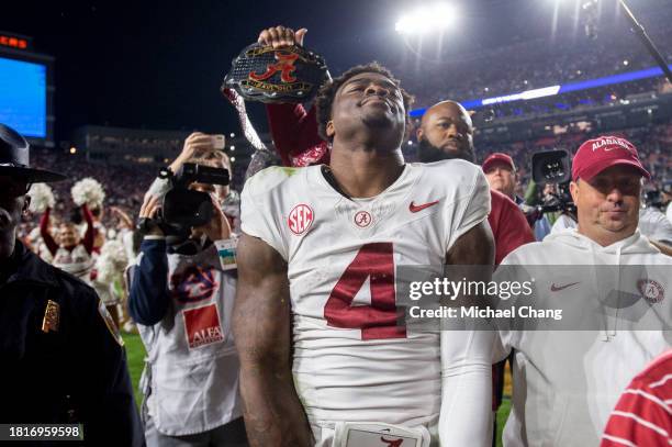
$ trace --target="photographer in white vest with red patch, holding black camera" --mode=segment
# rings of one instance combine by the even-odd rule
[[[210,147],[202,136],[188,138],[184,147],[191,157],[178,158],[172,167],[187,167],[186,163],[222,167],[221,157],[202,150]],[[173,189],[176,182],[171,180]],[[220,259],[215,244],[232,238],[220,205],[227,188],[191,179],[186,188],[180,193],[210,194],[212,217],[188,227],[186,239],[166,235],[165,231],[175,230],[163,222],[161,208],[168,208],[168,201],[148,193],[139,213],[145,237],[130,269],[128,308],[147,349],[141,381],[145,435],[148,446],[246,446],[239,362],[231,333],[236,276],[232,265]],[[170,189],[169,183],[157,180],[150,191],[165,189]]]

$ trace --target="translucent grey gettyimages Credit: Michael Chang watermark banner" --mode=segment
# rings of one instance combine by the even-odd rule
[[[660,266],[399,267],[396,304],[411,331],[659,331],[672,327]],[[480,279],[484,278],[484,279]]]

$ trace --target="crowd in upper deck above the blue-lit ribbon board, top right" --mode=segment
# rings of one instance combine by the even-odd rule
[[[640,21],[672,63],[672,11],[657,9]],[[392,67],[404,86],[416,96],[416,105],[427,107],[441,99],[459,101],[493,98],[530,89],[587,80],[654,66],[654,62],[627,25],[600,26],[594,38],[583,32],[556,35],[514,45],[471,52],[444,60],[425,62],[423,76]]]

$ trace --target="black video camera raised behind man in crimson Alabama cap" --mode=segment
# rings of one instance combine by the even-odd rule
[[[575,215],[576,206],[569,192],[571,181],[571,157],[564,149],[542,150],[533,155],[533,180],[537,185],[555,183],[558,189],[544,198],[544,203],[536,208],[540,216],[544,213],[561,211]]]

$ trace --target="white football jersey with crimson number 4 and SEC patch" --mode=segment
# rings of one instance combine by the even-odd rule
[[[439,334],[399,323],[395,270],[445,262],[488,217],[485,177],[463,160],[407,164],[377,197],[348,199],[325,175],[321,166],[271,167],[242,197],[243,231],[288,262],[299,396],[314,425],[432,424]]]

